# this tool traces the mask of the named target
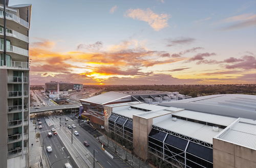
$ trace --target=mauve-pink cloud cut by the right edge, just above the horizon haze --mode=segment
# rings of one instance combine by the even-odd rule
[[[233,65],[226,65],[225,67],[227,69],[235,69],[235,68],[240,68],[240,69],[256,69],[256,59],[255,57],[251,55],[245,55],[242,57],[243,61],[240,61],[239,63],[233,64]]]

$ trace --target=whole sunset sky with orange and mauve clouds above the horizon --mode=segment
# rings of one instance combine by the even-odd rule
[[[30,82],[256,83],[256,1],[32,4]]]

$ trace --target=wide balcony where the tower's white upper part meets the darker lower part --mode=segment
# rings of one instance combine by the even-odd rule
[[[4,65],[4,61],[0,61],[0,69],[15,69],[15,70],[29,70],[28,62],[20,62],[20,61],[6,61]]]

